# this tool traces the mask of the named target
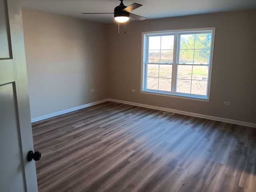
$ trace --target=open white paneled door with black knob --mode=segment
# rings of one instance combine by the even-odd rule
[[[28,82],[18,0],[0,0],[0,191],[37,192]]]

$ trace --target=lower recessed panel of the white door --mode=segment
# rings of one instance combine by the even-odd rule
[[[15,86],[13,83],[0,86],[0,189],[2,191],[24,192],[24,166],[21,153],[21,139],[18,126],[18,116],[16,111]],[[11,120],[10,120],[11,119]],[[4,175],[2,175],[4,173]],[[11,178],[11,179],[10,179]],[[14,185],[15,183],[15,185]]]

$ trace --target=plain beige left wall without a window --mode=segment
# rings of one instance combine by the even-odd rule
[[[106,24],[22,14],[32,118],[108,98]]]

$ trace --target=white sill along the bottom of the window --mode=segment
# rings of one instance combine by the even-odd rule
[[[157,91],[152,91],[152,90],[141,90],[140,92],[144,93],[144,94],[151,94],[151,95],[174,97],[174,98],[181,98],[181,99],[188,99],[188,100],[195,100],[195,101],[210,102],[209,98],[200,97],[200,96],[189,96],[189,95],[182,95],[182,94],[162,93],[162,92],[157,92]]]

